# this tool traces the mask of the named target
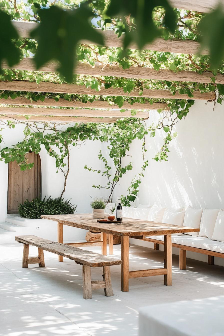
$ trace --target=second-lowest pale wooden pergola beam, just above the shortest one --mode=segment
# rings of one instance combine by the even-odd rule
[[[114,118],[142,118],[148,119],[149,113],[137,111],[134,116],[131,111],[120,112],[120,110],[67,110],[67,109],[48,109],[48,108],[26,108],[26,107],[0,107],[0,114],[7,115],[35,115],[35,116],[60,116],[60,117],[114,117]]]

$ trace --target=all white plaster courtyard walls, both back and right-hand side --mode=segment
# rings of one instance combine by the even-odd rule
[[[195,101],[185,120],[181,120],[175,130],[177,138],[169,145],[170,153],[168,162],[155,162],[151,160],[160,150],[165,133],[157,132],[156,137],[146,139],[149,166],[144,173],[144,178],[139,188],[136,203],[152,204],[160,206],[188,206],[196,208],[224,208],[224,150],[223,150],[223,124],[224,106],[216,104],[213,111],[213,103],[205,104],[205,101]],[[151,122],[158,118],[156,111],[150,111]],[[2,146],[11,145],[23,139],[21,126],[3,133]],[[90,212],[91,196],[106,196],[106,190],[92,188],[92,184],[103,184],[101,176],[83,169],[87,164],[93,168],[102,167],[98,160],[99,150],[108,155],[107,144],[97,141],[86,141],[81,147],[71,148],[71,171],[68,177],[65,199],[72,199],[77,204],[77,213]],[[133,162],[133,171],[127,172],[117,185],[114,194],[116,197],[127,193],[133,175],[140,171],[142,165],[141,143],[134,141],[126,162]],[[63,188],[63,175],[56,173],[54,159],[49,157],[43,149],[40,153],[42,163],[42,196],[57,197]],[[4,222],[7,210],[7,176],[8,167],[0,162],[0,222]],[[104,179],[105,182],[105,179]],[[48,230],[48,228],[46,228]],[[83,230],[76,231],[77,239],[84,239]],[[134,240],[133,243],[140,244]],[[143,243],[143,242],[142,242]],[[147,246],[150,243],[144,242]],[[174,253],[177,251],[174,249]],[[207,257],[201,254],[188,253],[189,257],[206,261]],[[222,259],[215,260],[222,264]]]

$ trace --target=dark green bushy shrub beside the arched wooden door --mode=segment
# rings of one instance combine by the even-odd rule
[[[40,218],[41,215],[68,215],[76,212],[76,206],[70,200],[63,198],[52,198],[46,196],[43,200],[35,198],[33,201],[26,200],[24,204],[19,204],[19,214],[24,218]]]

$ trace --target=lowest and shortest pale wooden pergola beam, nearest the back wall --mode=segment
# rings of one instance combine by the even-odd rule
[[[88,117],[49,117],[49,116],[32,116],[26,119],[25,116],[1,115],[0,120],[21,120],[26,122],[51,122],[51,123],[115,123],[117,118],[88,118]]]

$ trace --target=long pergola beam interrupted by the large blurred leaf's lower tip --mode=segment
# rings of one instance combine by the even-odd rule
[[[2,62],[2,67],[7,69],[6,62]],[[14,65],[11,69],[37,71],[33,63],[32,57],[23,58],[19,64]],[[43,72],[56,72],[57,66],[54,62],[50,62],[47,65],[41,67],[38,71]],[[176,81],[176,82],[196,82],[196,83],[211,83],[211,78],[214,78],[212,72],[205,71],[201,74],[194,71],[178,71],[171,70],[154,70],[147,67],[130,67],[129,69],[123,69],[117,65],[103,65],[98,62],[95,63],[94,68],[87,63],[79,63],[76,66],[75,73],[78,75],[90,75],[90,76],[111,76],[111,77],[123,77],[123,78],[135,78],[135,79],[153,79],[164,81]],[[224,84],[224,75],[216,75],[216,83]]]

